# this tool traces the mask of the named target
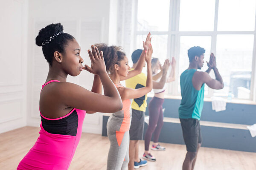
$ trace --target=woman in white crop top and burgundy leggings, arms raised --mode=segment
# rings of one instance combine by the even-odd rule
[[[149,143],[154,132],[154,143],[151,147],[152,150],[165,150],[164,147],[161,147],[158,144],[158,138],[163,126],[163,101],[164,101],[164,92],[166,82],[172,82],[175,80],[175,58],[172,57],[172,62],[169,59],[166,59],[163,67],[161,66],[158,58],[153,58],[152,63],[152,73],[153,73],[153,90],[154,97],[151,99],[148,105],[149,111],[149,123],[147,131],[145,133],[145,153],[143,155],[144,159],[148,161],[156,161],[154,156],[149,152]],[[167,72],[169,66],[172,65],[172,70],[167,77]],[[157,73],[161,70],[159,73]]]

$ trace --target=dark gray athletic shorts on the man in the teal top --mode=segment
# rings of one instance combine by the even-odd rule
[[[196,152],[202,143],[200,121],[198,119],[180,119],[183,139],[188,152]]]

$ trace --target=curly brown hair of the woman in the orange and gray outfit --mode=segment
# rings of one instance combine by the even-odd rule
[[[122,47],[119,46],[108,46],[104,43],[95,44],[95,46],[99,49],[99,51],[103,52],[106,70],[109,73],[113,73],[114,65],[120,65],[120,61],[126,56],[125,53],[121,51]]]

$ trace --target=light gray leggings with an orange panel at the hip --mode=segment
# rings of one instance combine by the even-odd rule
[[[129,163],[129,131],[108,130],[108,139],[110,140],[110,149],[107,170],[125,170]],[[120,146],[118,142],[121,143]]]

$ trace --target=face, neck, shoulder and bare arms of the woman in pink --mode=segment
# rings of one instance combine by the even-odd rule
[[[99,52],[94,45],[91,51],[88,50],[91,67],[82,65],[80,51],[80,46],[74,39],[68,42],[64,53],[54,52],[46,82],[53,79],[60,82],[49,83],[42,89],[39,104],[43,116],[58,118],[65,116],[73,108],[85,110],[87,113],[112,113],[122,109],[119,92],[106,72],[102,51]],[[68,74],[77,76],[83,69],[95,75],[92,91],[67,82]],[[105,95],[101,94],[102,85]]]

